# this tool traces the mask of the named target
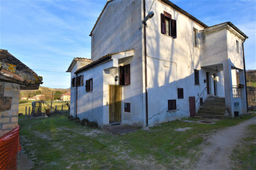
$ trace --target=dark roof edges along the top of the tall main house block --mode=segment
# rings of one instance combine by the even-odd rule
[[[97,23],[98,23],[100,17],[102,16],[103,12],[105,11],[106,6],[108,6],[108,4],[109,4],[110,2],[112,2],[112,1],[115,1],[115,0],[109,0],[109,1],[106,2],[105,6],[104,6],[104,8],[102,9],[102,11],[101,11],[99,17],[97,18],[97,20],[96,20],[96,22],[95,22],[95,24],[94,24],[94,26],[93,26],[93,29],[92,29],[92,31],[91,31],[91,33],[90,33],[89,36],[92,36],[92,35],[93,35],[93,30],[95,29],[95,27],[96,27],[96,25],[97,25]],[[208,28],[208,26],[207,26],[205,23],[203,23],[202,21],[200,21],[199,19],[197,19],[197,18],[194,17],[193,15],[190,15],[188,12],[184,11],[183,9],[181,9],[180,7],[178,7],[177,5],[175,5],[174,3],[172,3],[172,2],[170,2],[170,1],[168,1],[168,0],[160,0],[160,1],[162,1],[163,3],[166,3],[167,5],[169,5],[170,7],[174,8],[175,10],[179,11],[180,13],[182,13],[182,14],[186,15],[187,17],[189,17],[190,19],[196,21],[197,23],[199,23],[199,24],[200,24],[201,26],[203,26],[204,28]]]

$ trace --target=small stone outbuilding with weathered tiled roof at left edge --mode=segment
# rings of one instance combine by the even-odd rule
[[[18,126],[19,90],[37,90],[42,77],[0,50],[0,137]]]

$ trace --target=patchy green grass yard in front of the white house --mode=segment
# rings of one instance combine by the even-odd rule
[[[20,142],[33,169],[189,169],[206,137],[255,116],[223,119],[214,125],[180,120],[113,136],[68,120],[67,115],[19,118]],[[190,127],[185,132],[177,128]]]

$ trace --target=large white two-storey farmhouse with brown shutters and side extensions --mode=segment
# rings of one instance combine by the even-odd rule
[[[106,2],[90,33],[92,60],[75,58],[68,69],[70,114],[145,128],[246,113],[248,37],[231,22],[208,27],[167,0],[152,4]]]

